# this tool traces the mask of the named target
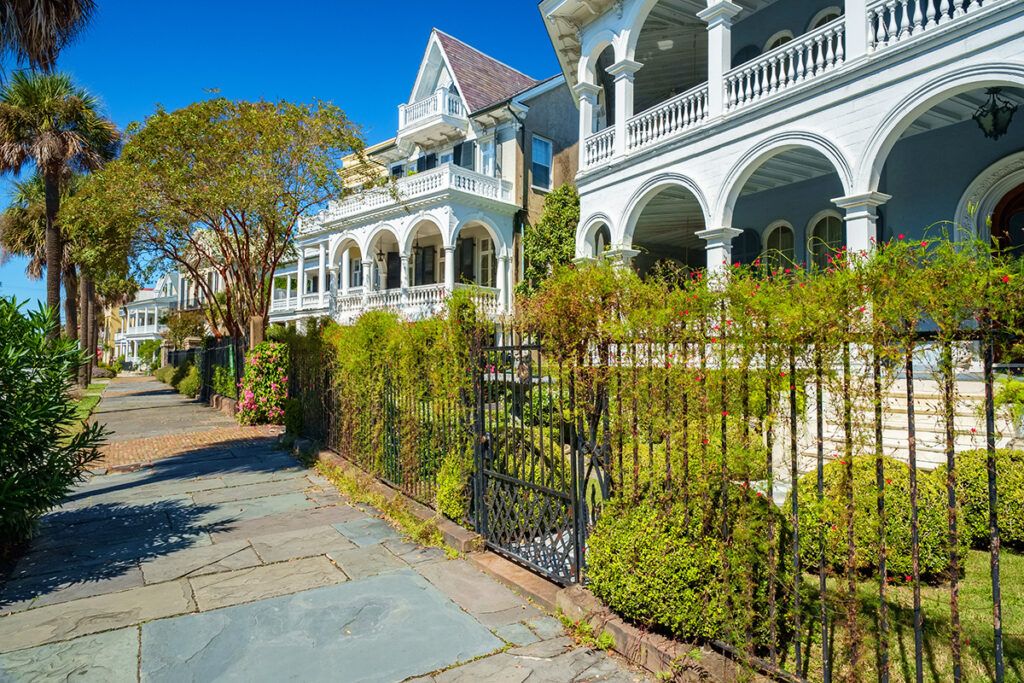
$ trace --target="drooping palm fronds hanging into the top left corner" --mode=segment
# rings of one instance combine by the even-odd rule
[[[0,0],[0,51],[33,69],[51,71],[95,8],[93,0]]]

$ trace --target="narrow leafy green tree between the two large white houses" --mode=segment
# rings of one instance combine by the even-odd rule
[[[560,265],[575,257],[575,231],[580,223],[580,193],[574,185],[555,188],[544,200],[537,225],[527,225],[523,237],[526,267],[520,291],[530,293]]]

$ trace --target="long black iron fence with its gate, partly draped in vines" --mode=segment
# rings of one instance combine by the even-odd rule
[[[489,548],[561,584],[587,580],[588,538],[615,499],[669,495],[688,517],[702,516],[707,528],[731,544],[735,506],[744,492],[756,490],[781,511],[777,521],[769,515],[766,528],[767,642],[755,646],[744,640],[749,626],[731,613],[737,637],[716,641],[720,649],[780,680],[830,681],[852,671],[889,681],[906,669],[916,681],[926,675],[961,681],[971,674],[964,666],[959,595],[965,557],[957,454],[965,399],[957,367],[965,353],[977,359],[980,351],[978,450],[985,453],[987,468],[992,639],[980,664],[1001,683],[996,341],[994,333],[969,330],[952,339],[919,333],[895,346],[868,338],[796,344],[764,337],[755,348],[726,335],[693,335],[671,343],[606,342],[573,354],[508,334],[504,343],[480,350],[472,369],[472,404],[431,396],[385,376],[371,401],[375,426],[359,432],[346,422],[328,356],[294,351],[292,395],[304,407],[307,429],[329,447],[427,505],[435,502],[438,454],[472,443],[468,521]],[[939,575],[922,565],[922,477],[926,465],[939,464],[921,460],[923,397],[915,385],[923,377],[939,388],[928,400],[935,405],[932,417],[946,468],[941,486],[948,558]],[[909,480],[911,560],[905,583],[911,589],[913,634],[912,663],[901,667],[899,676],[892,647],[902,616],[894,607],[892,562],[895,545],[905,540],[887,532],[887,520],[904,512],[889,483],[894,429],[906,434],[899,459]],[[745,459],[738,461],[737,453]],[[854,500],[854,458],[870,459],[873,470],[878,538],[866,551],[854,535],[854,515],[861,514]],[[825,485],[829,467],[842,468],[843,480],[850,482],[839,493],[846,557],[835,566],[826,561],[824,526],[804,528],[803,522],[807,509],[834,495]],[[813,483],[810,500],[800,485],[806,477]],[[816,562],[808,561],[808,549],[816,549]],[[869,568],[858,566],[858,552],[869,552]],[[783,561],[787,579],[774,568]],[[876,584],[873,607],[859,597],[865,581]],[[927,623],[928,582],[948,589],[948,625]],[[864,610],[873,612],[870,618]],[[780,618],[799,637],[784,638],[776,628]],[[931,647],[926,632],[946,641],[949,661],[941,672],[929,669],[937,665],[926,659]],[[971,656],[979,656],[977,648]],[[838,664],[844,671],[836,671]]]

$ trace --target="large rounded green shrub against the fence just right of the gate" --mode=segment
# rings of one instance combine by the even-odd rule
[[[769,643],[769,591],[775,577],[779,645],[792,637],[781,587],[792,583],[782,515],[748,489],[730,490],[733,538],[687,516],[675,495],[665,501],[616,499],[588,540],[590,588],[615,612],[644,627],[690,640],[722,639],[758,648]],[[774,520],[775,566],[768,520]]]

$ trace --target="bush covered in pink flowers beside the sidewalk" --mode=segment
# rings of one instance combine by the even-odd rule
[[[280,425],[284,422],[288,398],[287,345],[265,342],[249,352],[240,398],[239,422],[242,424]]]

